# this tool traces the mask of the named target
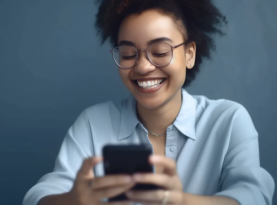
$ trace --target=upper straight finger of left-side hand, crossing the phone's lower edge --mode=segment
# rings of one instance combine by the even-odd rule
[[[96,177],[93,180],[92,188],[101,189],[115,185],[126,185],[132,183],[133,179],[128,175],[107,175],[104,177]]]

